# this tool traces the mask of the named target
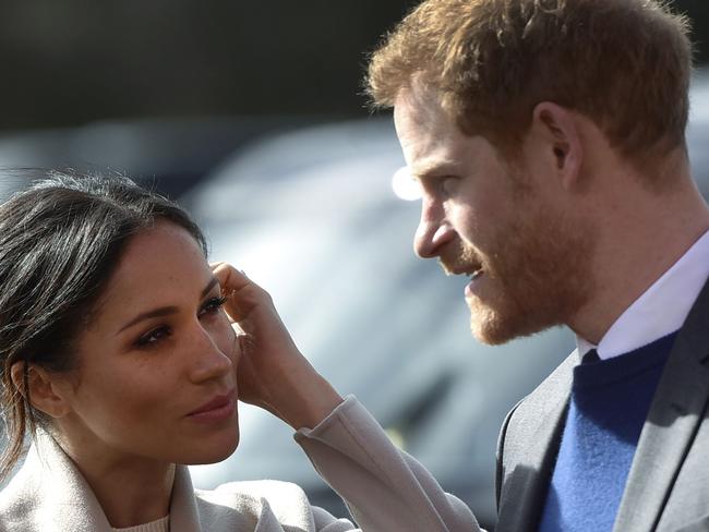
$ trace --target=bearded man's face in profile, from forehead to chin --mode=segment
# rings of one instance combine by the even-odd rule
[[[470,278],[472,334],[496,344],[567,323],[590,290],[581,252],[592,242],[545,173],[551,158],[522,149],[517,160],[503,160],[417,88],[399,95],[394,120],[421,184],[416,252]]]

